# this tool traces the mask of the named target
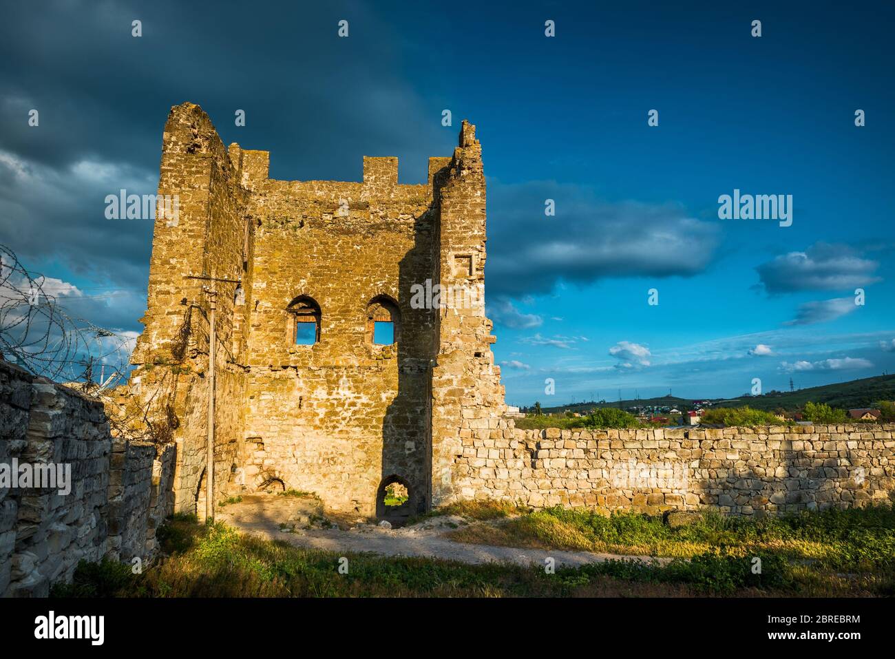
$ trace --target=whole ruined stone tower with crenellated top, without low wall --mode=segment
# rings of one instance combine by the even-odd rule
[[[362,183],[277,181],[268,158],[225,148],[200,107],[172,108],[158,194],[179,213],[156,219],[131,391],[177,443],[176,508],[204,501],[203,286],[217,290],[216,498],[273,486],[366,515],[394,482],[405,512],[456,498],[464,444],[507,428],[491,323],[482,304],[411,300],[435,285],[483,299],[475,127],[430,158],[426,184],[398,184],[397,158],[363,158]]]

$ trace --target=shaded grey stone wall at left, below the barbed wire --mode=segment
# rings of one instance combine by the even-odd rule
[[[154,467],[170,480],[173,450],[157,458],[155,446],[113,442],[100,401],[2,361],[0,432],[7,478],[17,463],[61,466],[71,479],[67,493],[0,486],[0,595],[45,596],[81,560],[150,558],[155,520],[170,511],[166,497],[153,500]]]

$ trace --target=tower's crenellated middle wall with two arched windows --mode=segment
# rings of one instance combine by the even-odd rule
[[[401,478],[425,506],[432,312],[410,304],[430,278],[428,185],[397,184],[396,158],[364,158],[362,183],[255,185],[245,483],[277,479],[328,506],[373,514]],[[310,298],[320,335],[295,345],[290,305]],[[372,304],[396,305],[396,343],[376,345]]]

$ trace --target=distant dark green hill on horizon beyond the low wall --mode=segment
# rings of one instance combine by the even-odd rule
[[[682,412],[692,409],[694,400],[707,400],[712,407],[742,407],[747,405],[754,409],[775,410],[781,407],[788,412],[805,407],[809,400],[814,403],[826,403],[831,407],[852,409],[870,407],[877,400],[895,400],[895,375],[877,375],[873,378],[862,378],[848,382],[824,384],[821,387],[809,387],[797,391],[771,391],[762,396],[741,396],[739,398],[677,398],[662,396],[661,398],[639,398],[637,400],[614,400],[605,403],[585,402],[575,405],[541,407],[545,413],[585,412],[594,407],[621,407],[628,409],[638,406],[677,407]],[[543,405],[541,403],[541,405]]]

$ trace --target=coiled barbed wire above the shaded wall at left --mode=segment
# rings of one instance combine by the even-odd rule
[[[98,393],[126,381],[133,341],[67,312],[47,278],[0,244],[0,354],[6,361]]]

